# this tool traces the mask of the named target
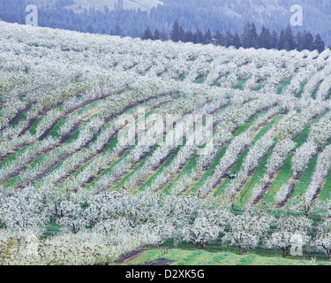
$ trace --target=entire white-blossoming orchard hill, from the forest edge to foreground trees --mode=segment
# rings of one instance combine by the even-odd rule
[[[221,231],[232,235],[220,219],[243,216],[254,227],[244,247],[256,248],[267,217],[251,211],[267,204],[280,218],[298,201],[294,233],[317,237],[323,218],[311,208],[331,193],[330,50],[4,22],[0,39],[0,247],[18,245],[11,263],[106,264],[173,237],[192,242],[185,233],[206,223],[217,249]]]

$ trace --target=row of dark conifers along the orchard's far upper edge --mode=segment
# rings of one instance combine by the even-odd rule
[[[254,23],[247,21],[243,27],[242,34],[232,34],[228,29],[225,34],[222,34],[218,29],[213,35],[210,29],[207,29],[206,33],[198,28],[194,33],[191,30],[184,30],[177,20],[175,20],[172,30],[168,35],[162,29],[162,32],[156,28],[154,33],[149,27],[142,34],[141,39],[143,40],[168,40],[173,42],[193,42],[201,44],[221,45],[221,46],[234,46],[235,48],[265,48],[275,50],[318,50],[322,52],[325,50],[325,44],[320,36],[317,34],[315,37],[309,31],[303,33],[299,30],[297,34],[293,34],[290,25],[286,29],[282,29],[281,33],[278,34],[275,29],[271,32],[268,27],[263,26],[260,34],[257,31]]]

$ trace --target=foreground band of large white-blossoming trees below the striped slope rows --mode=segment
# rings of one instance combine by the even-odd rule
[[[330,203],[315,203],[305,216],[302,202],[277,215],[265,205],[232,211],[192,195],[149,191],[66,195],[54,187],[25,187],[19,192],[1,188],[0,194],[0,264],[109,264],[125,252],[169,239],[196,249],[218,240],[240,255],[258,246],[282,250],[283,257],[312,249],[331,261]],[[324,211],[314,225],[312,210]],[[49,222],[59,226],[59,234],[45,240],[40,236]]]

